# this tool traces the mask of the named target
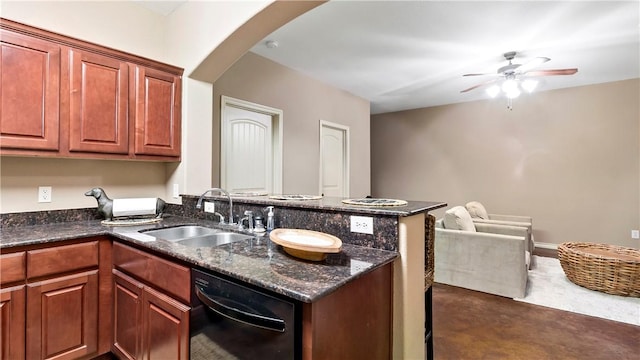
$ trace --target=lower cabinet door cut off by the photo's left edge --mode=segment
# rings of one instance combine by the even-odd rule
[[[0,290],[0,358],[24,359],[24,285]]]

